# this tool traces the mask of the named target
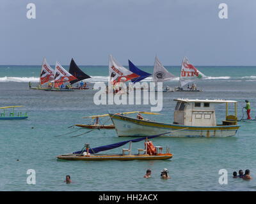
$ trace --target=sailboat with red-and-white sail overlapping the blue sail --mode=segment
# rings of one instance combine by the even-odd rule
[[[117,93],[122,90],[122,84],[124,84],[124,82],[138,77],[140,77],[140,75],[126,69],[119,64],[112,55],[109,55],[109,84],[113,86],[113,89],[108,88],[108,92],[113,90],[114,93]]]

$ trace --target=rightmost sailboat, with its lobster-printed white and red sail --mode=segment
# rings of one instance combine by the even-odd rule
[[[187,57],[184,57],[180,69],[179,87],[175,87],[175,91],[201,91],[196,88],[195,83],[193,83],[191,87],[188,85],[186,90],[183,87],[191,82],[202,80],[204,77],[206,76],[195,68],[193,64],[190,64]]]

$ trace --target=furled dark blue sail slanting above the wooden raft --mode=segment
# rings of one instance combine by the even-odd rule
[[[164,134],[167,134],[167,133],[164,133]],[[140,142],[142,140],[146,140],[147,138],[150,139],[150,138],[156,138],[157,136],[161,136],[161,135],[164,135],[164,134],[159,134],[159,135],[152,135],[152,136],[145,136],[143,138],[137,138],[137,139],[133,139],[133,140],[126,140],[126,141],[123,141],[123,142],[118,142],[118,143],[113,143],[111,145],[105,145],[105,146],[100,146],[100,147],[95,147],[95,148],[90,148],[89,150],[89,153],[90,154],[96,154],[98,152],[102,152],[102,151],[105,151],[105,150],[109,150],[109,149],[115,149],[117,147],[121,147],[123,145],[125,145],[126,143],[128,142]],[[83,152],[85,152],[86,150],[80,150],[80,151],[77,151],[77,152],[73,152],[72,154],[82,154]]]

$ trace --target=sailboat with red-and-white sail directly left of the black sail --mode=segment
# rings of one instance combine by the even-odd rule
[[[66,69],[64,69],[60,62],[56,61],[55,65],[55,76],[54,76],[54,88],[45,89],[45,91],[74,91],[72,89],[66,89],[64,86],[61,87],[66,82],[71,82],[73,80],[77,80],[76,77],[68,73]]]

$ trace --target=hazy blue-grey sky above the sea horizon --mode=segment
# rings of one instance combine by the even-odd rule
[[[28,19],[27,4],[36,6]],[[228,18],[219,18],[219,4]],[[1,0],[0,64],[256,65],[255,0]]]

